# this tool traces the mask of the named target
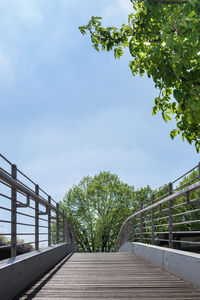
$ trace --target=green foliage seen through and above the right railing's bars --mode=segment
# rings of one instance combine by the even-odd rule
[[[189,174],[180,178],[176,181],[176,186],[173,184],[172,193],[181,191],[184,188],[198,182],[199,180],[199,171],[195,170],[190,171]],[[162,199],[166,198],[169,195],[169,185],[164,184],[159,188],[151,190],[147,186],[148,192],[145,195],[144,189],[138,190],[138,194],[135,191],[135,207],[134,212],[140,211],[144,206],[150,206],[152,200],[154,202],[159,202]],[[196,238],[196,241],[199,242],[199,237],[194,236],[192,232],[199,231],[199,220],[200,220],[200,209],[199,209],[199,190],[195,190],[189,193],[189,201],[187,203],[186,195],[181,196],[177,199],[174,199],[172,202],[172,221],[173,221],[173,231],[174,232],[191,232],[191,237],[187,236],[187,239],[190,240]],[[153,196],[153,198],[152,198]],[[133,212],[133,213],[134,213]],[[146,214],[143,214],[143,241],[145,243],[151,243],[151,233],[152,233],[152,220],[151,220],[152,211],[149,210]],[[169,222],[169,202],[163,203],[154,209],[154,230],[156,239],[168,239],[168,222]],[[130,222],[131,223],[131,222]],[[129,222],[127,224],[129,226]],[[135,217],[130,224],[131,229],[128,229],[130,234],[128,235],[128,240],[133,240],[133,229],[134,229],[134,240],[140,240],[140,215]],[[166,233],[166,234],[164,234]],[[167,242],[163,240],[163,243]],[[180,246],[180,243],[175,244],[176,247]],[[188,244],[181,244],[181,247],[188,247]]]

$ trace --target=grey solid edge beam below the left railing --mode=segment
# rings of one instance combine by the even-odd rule
[[[74,245],[61,244],[2,261],[0,299],[13,299],[69,253],[75,251]]]

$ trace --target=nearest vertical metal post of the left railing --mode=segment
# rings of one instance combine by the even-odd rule
[[[17,166],[12,165],[11,175],[17,179]],[[17,191],[11,188],[11,257],[17,255]]]

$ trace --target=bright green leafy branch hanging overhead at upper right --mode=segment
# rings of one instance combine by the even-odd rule
[[[121,28],[102,27],[100,17],[92,17],[88,31],[94,48],[113,51],[115,58],[128,48],[133,75],[145,73],[160,89],[153,115],[161,111],[167,122],[174,115],[173,139],[194,143],[200,151],[200,1],[130,0],[133,13]],[[172,97],[173,96],[173,97]]]

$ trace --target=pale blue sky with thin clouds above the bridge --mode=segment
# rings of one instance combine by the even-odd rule
[[[158,187],[199,162],[194,146],[152,116],[159,94],[78,26],[127,23],[128,0],[0,0],[0,152],[56,201],[84,176],[110,171]]]

